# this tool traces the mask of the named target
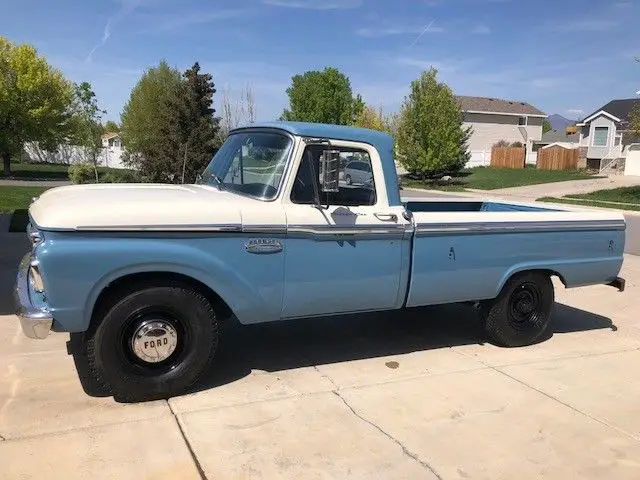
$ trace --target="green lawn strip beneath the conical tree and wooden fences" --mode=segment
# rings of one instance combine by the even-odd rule
[[[461,191],[465,189],[495,190],[497,188],[521,187],[542,183],[565,182],[568,180],[587,180],[598,178],[584,172],[564,170],[538,170],[535,167],[523,169],[476,167],[463,170],[450,182],[441,180],[418,181],[403,178],[407,187],[429,188],[435,190]]]

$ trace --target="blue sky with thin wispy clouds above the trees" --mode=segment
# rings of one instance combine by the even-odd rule
[[[0,32],[92,83],[118,120],[145,68],[199,61],[277,117],[291,76],[336,66],[397,110],[433,65],[457,94],[588,114],[640,90],[640,0],[2,0]],[[216,102],[216,107],[219,103]]]

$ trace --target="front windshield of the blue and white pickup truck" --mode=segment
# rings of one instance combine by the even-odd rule
[[[214,155],[199,183],[272,200],[292,145],[292,140],[281,133],[233,133]]]

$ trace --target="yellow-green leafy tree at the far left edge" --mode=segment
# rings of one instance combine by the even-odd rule
[[[26,142],[54,150],[70,133],[72,85],[30,45],[0,36],[0,157],[11,175],[11,157]]]

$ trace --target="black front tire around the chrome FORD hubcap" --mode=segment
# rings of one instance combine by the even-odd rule
[[[210,368],[218,345],[211,303],[179,284],[138,285],[100,309],[85,336],[89,372],[116,400],[148,401],[185,393]],[[176,332],[171,355],[158,363],[137,356],[132,339],[140,325],[161,319]]]

